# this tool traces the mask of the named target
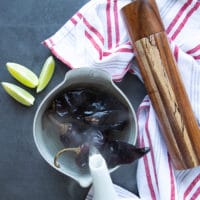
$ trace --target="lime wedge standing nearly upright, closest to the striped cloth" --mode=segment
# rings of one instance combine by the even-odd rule
[[[37,93],[41,92],[48,85],[53,76],[54,69],[55,61],[52,56],[49,56],[46,59],[39,76],[39,83],[36,90]]]

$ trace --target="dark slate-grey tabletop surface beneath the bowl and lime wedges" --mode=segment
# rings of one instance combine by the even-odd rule
[[[41,41],[52,35],[87,0],[0,0],[0,81],[20,85],[7,72],[6,62],[28,66],[39,74],[50,55]],[[49,86],[36,95],[27,108],[10,98],[0,87],[0,200],[81,200],[82,189],[70,178],[52,169],[39,155],[32,136],[35,111],[45,95],[60,83],[68,68],[56,60]],[[22,86],[22,85],[20,85]],[[127,74],[118,86],[136,109],[145,95],[139,80]],[[29,90],[35,95],[34,90]],[[112,174],[113,182],[137,192],[133,163]]]

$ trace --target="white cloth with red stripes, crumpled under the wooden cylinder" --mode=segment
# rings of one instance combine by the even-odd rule
[[[129,2],[91,0],[43,43],[71,68],[103,68],[115,81],[121,80],[127,71],[141,78],[137,65],[131,62],[134,52],[120,12]],[[157,4],[192,109],[200,123],[200,1],[157,0]],[[148,96],[140,104],[137,118],[139,143],[151,147],[151,152],[138,162],[140,198],[200,199],[200,167],[182,171],[173,168]]]

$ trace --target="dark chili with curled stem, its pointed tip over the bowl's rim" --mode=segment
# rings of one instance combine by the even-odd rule
[[[54,165],[59,167],[57,160],[62,153],[73,151],[76,153],[75,162],[78,167],[87,169],[89,166],[88,160],[90,147],[93,146],[82,144],[80,147],[76,148],[64,148],[56,154]],[[130,164],[150,151],[150,148],[148,147],[139,148],[122,141],[110,141],[97,149],[104,157],[108,168],[113,168],[123,164]]]

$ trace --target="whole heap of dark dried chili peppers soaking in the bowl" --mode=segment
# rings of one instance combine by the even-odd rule
[[[80,168],[88,168],[91,147],[99,150],[109,168],[134,162],[149,151],[146,147],[138,148],[126,142],[111,141],[109,135],[123,131],[128,126],[129,117],[127,108],[105,92],[93,88],[65,91],[57,96],[48,112],[50,121],[57,127],[60,140],[66,147],[56,154],[56,167],[59,167],[59,156],[72,151],[76,153],[76,164]]]

